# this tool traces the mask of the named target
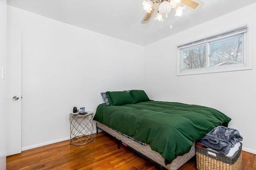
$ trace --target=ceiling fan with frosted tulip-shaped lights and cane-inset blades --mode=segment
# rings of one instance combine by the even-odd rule
[[[180,4],[184,6],[180,6]],[[185,9],[185,7],[196,12],[200,10],[203,5],[204,2],[200,0],[143,0],[142,6],[147,13],[141,23],[148,23],[157,9],[157,16],[154,20],[164,21],[162,16],[166,15],[167,18],[167,14],[170,12],[171,8],[176,10],[175,16],[181,16],[182,10]]]

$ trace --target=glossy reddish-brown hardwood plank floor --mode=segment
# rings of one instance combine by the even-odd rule
[[[243,170],[256,170],[256,155],[242,152]],[[94,134],[94,141],[83,146],[70,145],[69,141],[54,143],[20,154],[7,156],[6,170],[156,170],[150,162],[135,156],[104,132]],[[179,170],[196,170],[192,158]]]

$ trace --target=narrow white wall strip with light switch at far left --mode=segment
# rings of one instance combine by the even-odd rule
[[[2,67],[6,70],[6,0],[0,0],[0,170],[6,169],[6,80],[2,80]]]

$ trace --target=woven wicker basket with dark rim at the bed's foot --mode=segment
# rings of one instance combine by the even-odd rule
[[[241,170],[242,143],[240,144],[238,151],[232,157],[196,145],[196,168],[198,170]]]

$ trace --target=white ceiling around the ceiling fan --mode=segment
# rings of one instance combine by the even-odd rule
[[[149,23],[141,24],[146,14],[142,1],[7,0],[7,4],[124,41],[147,45],[256,2],[201,0],[204,6],[198,12],[185,9],[182,16],[178,17],[174,16],[175,10],[172,10],[164,22],[154,21],[153,16]]]

